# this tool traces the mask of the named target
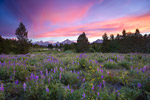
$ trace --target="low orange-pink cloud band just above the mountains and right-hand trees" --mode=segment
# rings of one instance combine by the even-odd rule
[[[37,35],[36,38],[77,36],[83,31],[87,33],[88,37],[99,37],[105,32],[107,32],[109,35],[112,33],[121,34],[123,29],[134,32],[136,28],[139,28],[141,32],[149,32],[149,23],[150,14],[145,14],[142,16],[129,16],[113,20],[93,22],[74,27],[58,28],[56,30]]]

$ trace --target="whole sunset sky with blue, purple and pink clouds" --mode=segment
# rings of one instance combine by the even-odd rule
[[[15,38],[23,22],[32,41],[89,41],[104,33],[150,33],[150,0],[0,0],[0,35]]]

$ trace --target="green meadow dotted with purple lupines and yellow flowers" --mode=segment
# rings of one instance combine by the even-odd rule
[[[0,55],[0,100],[150,100],[150,55]]]

